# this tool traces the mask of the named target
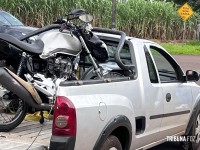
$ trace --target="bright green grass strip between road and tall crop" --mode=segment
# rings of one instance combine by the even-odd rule
[[[200,55],[200,41],[178,44],[162,43],[161,45],[172,55]]]

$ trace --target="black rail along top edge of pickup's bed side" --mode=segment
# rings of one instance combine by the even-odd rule
[[[81,86],[81,85],[90,85],[90,84],[129,81],[133,79],[134,77],[117,77],[117,78],[106,78],[106,79],[98,79],[98,80],[63,81],[60,83],[59,86]]]

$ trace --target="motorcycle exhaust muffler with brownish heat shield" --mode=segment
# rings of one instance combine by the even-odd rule
[[[53,105],[42,103],[35,88],[7,68],[0,67],[0,84],[37,110],[51,110]]]

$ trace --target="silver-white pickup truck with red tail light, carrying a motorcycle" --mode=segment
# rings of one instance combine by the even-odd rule
[[[120,36],[97,35],[115,51]],[[116,67],[108,78],[60,83],[50,150],[143,150],[169,137],[198,150],[199,74],[184,73],[163,47],[148,40],[127,36],[120,56],[134,66],[131,71]],[[106,65],[116,66],[115,60]]]

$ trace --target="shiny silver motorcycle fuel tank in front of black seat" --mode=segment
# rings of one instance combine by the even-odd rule
[[[79,39],[69,32],[52,30],[41,34],[38,39],[44,42],[44,49],[40,55],[42,59],[58,53],[76,56],[82,50]]]

